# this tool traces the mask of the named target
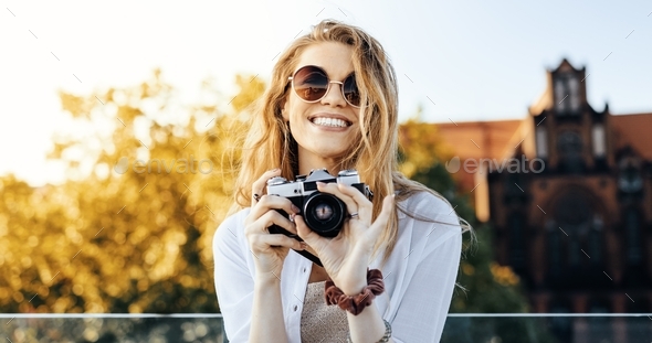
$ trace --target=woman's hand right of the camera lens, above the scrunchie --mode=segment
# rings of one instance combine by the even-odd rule
[[[388,195],[382,202],[382,211],[371,223],[372,204],[357,189],[341,183],[317,183],[323,193],[330,193],[341,200],[349,214],[339,235],[325,238],[309,229],[302,216],[295,216],[298,236],[312,247],[333,282],[347,296],[359,293],[367,286],[367,267],[376,240],[387,227],[393,196]]]

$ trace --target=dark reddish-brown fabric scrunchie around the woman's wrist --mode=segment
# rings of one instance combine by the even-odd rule
[[[378,269],[371,269],[367,270],[367,286],[359,294],[345,294],[330,279],[326,280],[324,288],[326,304],[337,304],[340,309],[358,315],[366,307],[371,304],[376,296],[385,291],[385,282],[382,281],[382,272]]]

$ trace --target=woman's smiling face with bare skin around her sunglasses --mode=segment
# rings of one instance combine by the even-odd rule
[[[343,43],[316,43],[303,51],[294,71],[315,65],[326,72],[329,81],[343,82],[354,72],[351,56],[353,47]],[[339,171],[340,158],[359,137],[359,111],[360,108],[345,100],[341,85],[336,83],[316,103],[304,101],[288,88],[282,114],[298,144],[299,174],[319,168],[328,169],[332,174]]]

